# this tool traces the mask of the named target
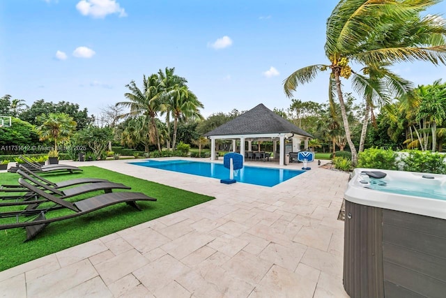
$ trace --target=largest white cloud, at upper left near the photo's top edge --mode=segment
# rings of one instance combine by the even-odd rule
[[[118,13],[119,17],[127,17],[124,8],[115,0],[81,0],[76,4],[77,10],[82,15],[103,18],[112,13]]]

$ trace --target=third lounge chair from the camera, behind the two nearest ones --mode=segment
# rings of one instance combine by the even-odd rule
[[[70,180],[59,181],[59,182],[52,182],[52,181],[45,179],[44,177],[39,176],[35,172],[29,170],[27,167],[24,167],[23,165],[19,165],[19,167],[20,167],[20,170],[22,170],[22,172],[29,174],[30,177],[38,179],[39,181],[42,181],[42,183],[46,184],[47,186],[52,186],[54,188],[64,188],[64,187],[68,187],[68,186],[74,186],[77,184],[109,182],[107,179],[99,179],[99,178],[77,178],[77,179],[70,179]],[[0,186],[0,192],[17,193],[19,191],[28,191],[28,189],[24,188],[20,184],[18,184],[18,185],[3,184]]]

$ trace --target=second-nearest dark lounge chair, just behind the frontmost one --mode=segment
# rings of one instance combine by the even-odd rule
[[[124,184],[120,183],[98,182],[61,190],[52,186],[48,186],[47,184],[34,179],[22,170],[17,170],[17,174],[20,174],[20,176],[22,176],[24,179],[31,181],[34,186],[40,188],[41,190],[49,191],[53,195],[59,195],[59,198],[61,199],[71,198],[76,195],[82,195],[83,193],[90,193],[92,191],[104,191],[105,193],[112,193],[113,189],[131,189],[130,186],[125,186]],[[3,200],[15,200],[15,202],[2,202],[0,203],[0,207],[27,205],[26,209],[35,209],[40,203],[46,202],[46,200],[38,199],[35,191],[32,191],[28,187],[25,187],[24,189],[26,189],[26,193],[24,195],[0,197]]]

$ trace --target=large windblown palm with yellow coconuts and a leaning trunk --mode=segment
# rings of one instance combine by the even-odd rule
[[[321,71],[330,70],[329,99],[332,100],[332,90],[335,89],[353,165],[357,163],[357,151],[351,140],[341,91],[341,77],[348,79],[352,73],[349,61],[366,66],[414,60],[444,64],[445,21],[438,15],[419,16],[437,2],[341,0],[327,21],[325,55],[330,64],[300,68],[284,81],[284,91],[291,97],[298,85],[311,82]],[[420,43],[408,46],[410,38]]]

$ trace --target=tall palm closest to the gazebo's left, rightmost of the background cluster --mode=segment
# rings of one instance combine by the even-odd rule
[[[164,102],[164,110],[171,111],[174,117],[174,137],[172,140],[172,148],[174,149],[178,121],[190,118],[203,119],[199,109],[204,106],[187,86],[172,89],[164,95],[164,98],[167,98],[167,101]]]

